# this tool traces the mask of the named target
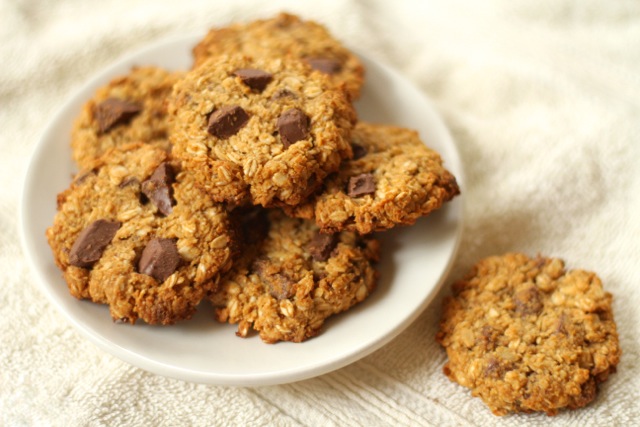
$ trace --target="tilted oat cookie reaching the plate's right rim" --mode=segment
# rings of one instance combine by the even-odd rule
[[[353,158],[308,201],[285,207],[314,219],[325,232],[362,234],[410,225],[460,193],[440,155],[418,133],[360,122],[351,136]]]

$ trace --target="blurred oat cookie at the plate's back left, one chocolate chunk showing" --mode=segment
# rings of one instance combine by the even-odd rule
[[[110,148],[145,142],[169,150],[165,100],[181,73],[136,67],[99,88],[82,108],[71,134],[80,169]]]

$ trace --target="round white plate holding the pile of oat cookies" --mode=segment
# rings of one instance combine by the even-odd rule
[[[212,320],[204,306],[170,327],[115,324],[106,306],[71,297],[45,239],[56,194],[70,183],[75,166],[69,135],[81,106],[99,86],[133,65],[187,69],[200,36],[154,44],[127,56],[88,82],[45,129],[25,177],[21,206],[22,243],[42,290],[78,330],[107,352],[148,371],[186,381],[257,386],[314,377],[352,363],[388,343],[427,307],[442,285],[458,248],[462,200],[412,227],[381,233],[383,261],[374,294],[346,314],[330,318],[323,332],[304,343],[264,344],[258,336],[235,336],[235,325]],[[357,103],[363,121],[417,129],[445,159],[462,184],[455,145],[430,102],[396,71],[361,55],[367,82]]]

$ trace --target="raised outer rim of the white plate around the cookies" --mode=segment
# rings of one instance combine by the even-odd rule
[[[59,123],[66,114],[66,111],[69,108],[69,104],[76,104],[85,99],[83,96],[84,93],[88,90],[89,87],[94,88],[100,85],[103,82],[107,82],[113,77],[115,77],[115,70],[122,68],[124,64],[128,64],[130,62],[134,62],[136,58],[148,54],[151,51],[159,49],[161,47],[166,47],[170,44],[181,44],[188,42],[196,42],[199,38],[202,37],[201,33],[192,33],[185,34],[173,37],[165,37],[158,39],[154,42],[145,44],[141,47],[138,47],[128,53],[120,55],[112,62],[110,62],[106,67],[102,68],[100,71],[93,74],[89,79],[84,81],[79,88],[77,88],[70,96],[66,97],[56,112],[51,116],[48,120],[47,125],[38,135],[37,142],[34,144],[33,149],[28,155],[28,164],[26,171],[23,175],[22,186],[21,186],[21,194],[20,194],[20,202],[18,209],[18,223],[19,223],[19,235],[21,241],[21,247],[25,258],[27,259],[28,266],[32,273],[35,273],[35,279],[38,283],[38,288],[41,292],[43,292],[50,303],[56,307],[58,312],[63,314],[63,317],[78,331],[80,334],[88,339],[90,342],[95,344],[102,351],[105,351],[112,356],[115,356],[132,366],[138,367],[148,372],[152,372],[154,374],[190,381],[194,383],[201,384],[211,384],[211,385],[224,385],[224,386],[265,386],[265,385],[277,385],[277,384],[285,384],[295,381],[301,381],[305,379],[309,379],[312,377],[316,377],[319,375],[323,375],[329,372],[332,372],[336,369],[345,367],[357,360],[362,359],[373,353],[374,351],[384,347],[394,338],[396,338],[400,333],[402,333],[405,329],[407,329],[415,320],[424,312],[424,310],[433,302],[436,295],[442,289],[442,286],[446,282],[453,264],[458,255],[462,234],[464,229],[464,194],[458,195],[453,201],[448,203],[448,209],[455,209],[455,219],[456,226],[455,232],[453,233],[453,247],[448,255],[447,263],[444,269],[440,272],[440,277],[438,282],[435,284],[431,292],[429,293],[427,298],[424,298],[422,303],[418,305],[411,315],[406,316],[402,322],[399,322],[395,325],[394,328],[389,330],[386,335],[374,340],[372,342],[366,342],[361,346],[357,346],[354,351],[351,351],[347,356],[341,356],[331,359],[328,363],[325,363],[321,366],[317,366],[314,364],[304,364],[302,366],[288,369],[285,371],[268,371],[262,373],[251,373],[251,374],[221,374],[218,372],[210,372],[203,371],[199,369],[188,369],[183,366],[176,366],[164,363],[162,361],[158,361],[152,358],[147,357],[144,354],[132,351],[126,347],[119,345],[116,342],[109,340],[107,337],[104,337],[101,333],[94,331],[90,326],[83,323],[81,319],[73,316],[71,312],[69,312],[65,307],[62,306],[61,302],[58,301],[57,295],[54,295],[53,289],[50,285],[50,280],[45,277],[44,271],[36,264],[35,258],[31,255],[31,250],[33,249],[33,245],[29,238],[29,234],[33,234],[28,231],[28,224],[26,222],[26,210],[28,209],[28,195],[29,189],[33,188],[33,179],[34,173],[33,169],[35,168],[36,160],[39,158],[39,153],[46,148],[47,135],[50,135],[55,128],[56,124]],[[424,93],[420,88],[418,88],[410,79],[405,77],[400,71],[391,67],[390,65],[380,62],[372,57],[363,54],[357,48],[349,47],[356,55],[367,59],[370,62],[376,64],[376,66],[383,69],[387,74],[392,75],[394,78],[403,80],[405,83],[413,86],[417,92],[418,96],[422,98],[422,101],[429,108],[429,115],[435,119],[436,125],[439,127],[438,131],[441,136],[445,139],[443,141],[444,144],[448,147],[448,157],[446,158],[447,169],[455,170],[456,180],[461,188],[464,187],[465,179],[464,179],[464,170],[462,168],[462,161],[460,156],[460,151],[451,135],[449,128],[446,126],[444,119],[441,114],[435,109],[433,102]],[[127,66],[130,68],[130,66]],[[366,84],[366,83],[365,83]],[[53,195],[52,197],[54,197]],[[69,295],[72,298],[71,295]],[[257,339],[257,337],[256,337]],[[266,344],[265,344],[266,345]],[[297,344],[301,345],[301,344]],[[302,344],[303,345],[303,344]]]

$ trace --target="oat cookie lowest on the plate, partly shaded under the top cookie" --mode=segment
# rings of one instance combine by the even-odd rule
[[[279,210],[259,212],[245,227],[248,246],[211,297],[220,322],[237,323],[264,342],[301,342],[329,316],[362,302],[373,290],[378,241],[342,232],[320,234],[311,221]]]

